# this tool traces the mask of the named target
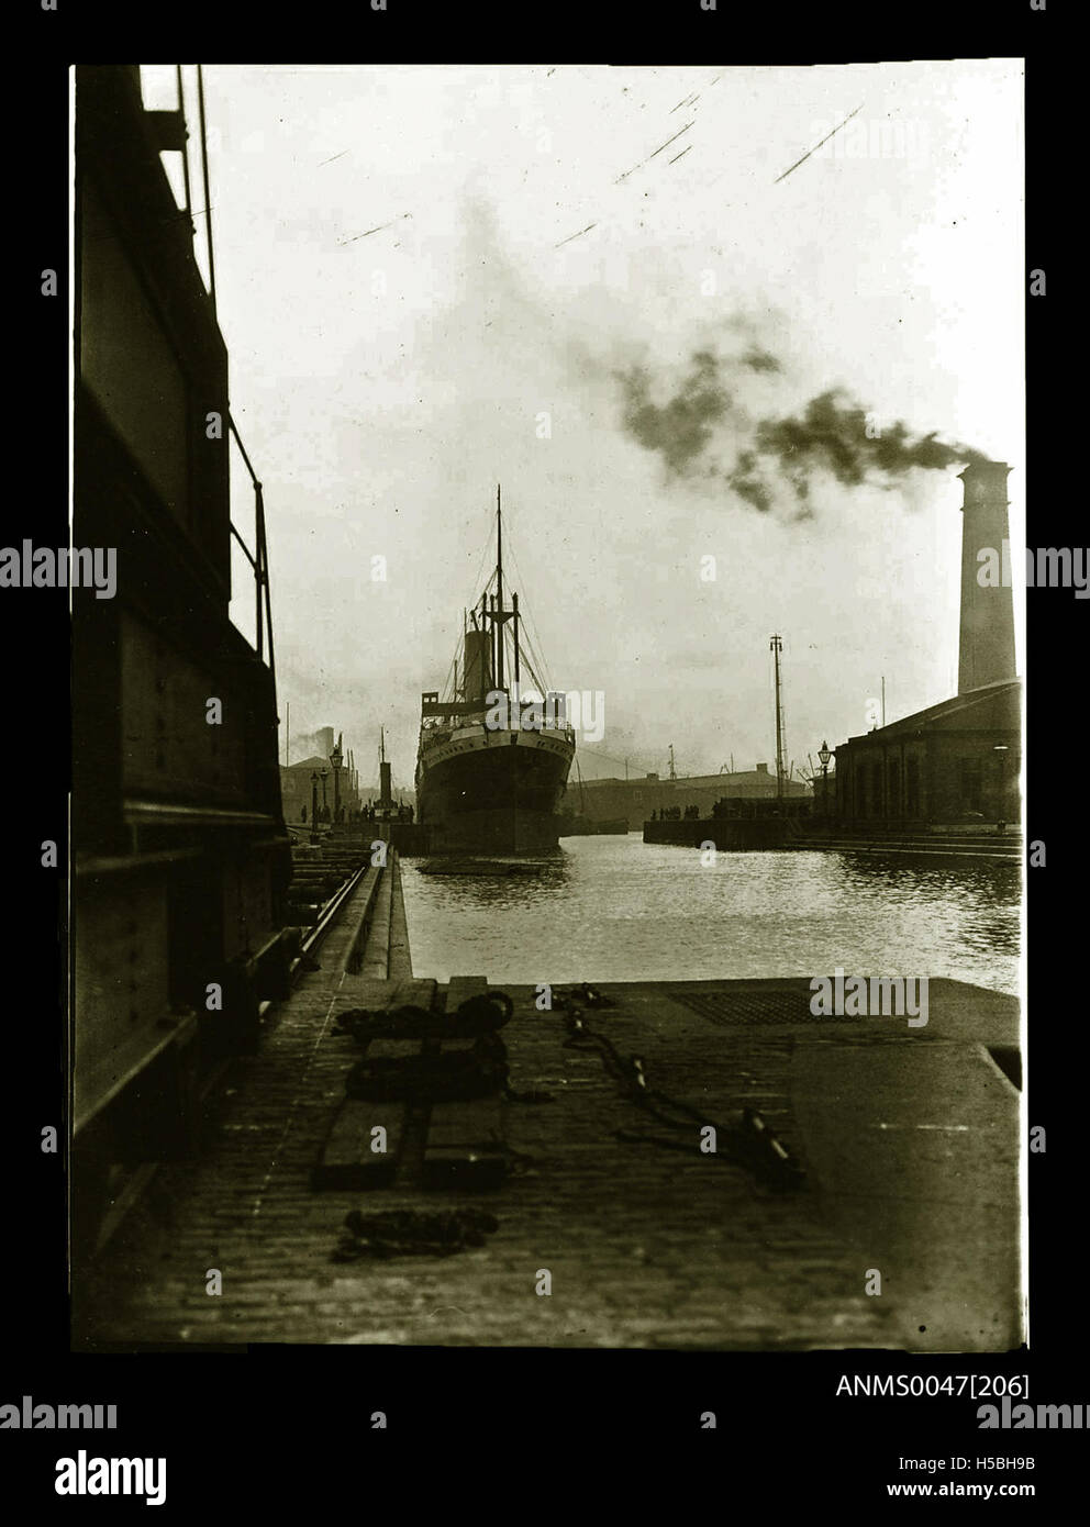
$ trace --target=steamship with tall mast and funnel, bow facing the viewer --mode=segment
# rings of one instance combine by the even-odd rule
[[[510,632],[508,632],[510,626]],[[522,690],[524,670],[534,690]],[[504,602],[496,489],[496,567],[467,612],[447,696],[420,705],[417,811],[431,852],[536,854],[557,846],[560,799],[576,756],[563,696],[547,693],[525,651],[519,596]]]

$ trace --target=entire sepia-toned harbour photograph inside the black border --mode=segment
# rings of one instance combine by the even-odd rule
[[[1017,1351],[1023,61],[70,78],[72,1348]]]

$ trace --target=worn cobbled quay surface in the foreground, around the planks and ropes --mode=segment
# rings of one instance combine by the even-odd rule
[[[536,1011],[531,988],[508,986],[516,999],[504,1029],[511,1086],[548,1092],[553,1101],[505,1104],[507,1141],[519,1156],[504,1186],[481,1196],[411,1185],[314,1191],[310,1171],[359,1054],[331,1032],[333,1017],[360,1000],[357,983],[353,976],[307,977],[273,1019],[260,1054],[235,1063],[202,1159],[160,1168],[107,1251],[76,1270],[76,1347],[278,1341],[771,1350],[928,1347],[953,1336],[951,1350],[991,1350],[1017,1341],[1017,1246],[1014,1261],[995,1258],[997,1246],[1012,1235],[1017,1241],[1009,1180],[1012,1173],[1017,1180],[1017,1093],[982,1051],[972,1023],[954,1025],[951,1037],[908,1034],[890,1020],[757,1022],[742,1000],[757,989],[798,994],[800,982],[606,986],[615,1006],[585,1017],[618,1051],[643,1057],[652,1087],[707,1110],[710,1122],[754,1107],[800,1159],[803,1190],[777,1193],[725,1156],[701,1154],[696,1122],[679,1136],[690,1151],[618,1139],[617,1130],[669,1132],[621,1095],[597,1054],[565,1048],[559,1012]],[[959,988],[959,1011],[972,1008],[974,991]],[[719,1020],[679,1000],[685,994],[713,994]],[[985,1002],[977,1026],[991,1022],[992,1009]],[[1009,1028],[1009,1009],[1003,1022]],[[895,1124],[867,1116],[867,1089],[881,1090],[892,1064],[911,1093],[924,1055],[931,1060],[911,1106],[917,1112],[905,1104],[898,1135]],[[872,1066],[863,1092],[852,1080],[858,1057]],[[846,1058],[843,1067],[838,1058]],[[972,1078],[976,1122],[921,1122],[937,1063],[942,1073]],[[847,1090],[837,1099],[843,1075]],[[960,1096],[956,1090],[954,1109]],[[888,1102],[887,1089],[885,1112]],[[942,1209],[943,1167],[934,1157],[962,1135],[983,1141],[994,1180],[983,1194],[986,1228],[979,1226],[976,1246],[962,1237],[962,1270],[946,1287],[943,1266],[933,1257],[919,1263],[931,1252],[916,1240],[928,1240],[931,1200],[939,1219],[946,1212],[962,1222],[963,1203]],[[901,1156],[890,1176],[875,1142],[895,1138]],[[924,1139],[927,1171],[911,1156]],[[869,1177],[875,1161],[878,1176]],[[986,1174],[986,1162],[956,1167],[962,1200],[980,1199],[971,1171]],[[908,1220],[905,1200],[913,1205]],[[348,1209],[467,1205],[499,1222],[479,1249],[441,1260],[330,1260]],[[208,1292],[211,1269],[220,1272],[217,1295]],[[881,1295],[867,1293],[875,1269],[885,1275]],[[548,1295],[537,1292],[543,1270]]]

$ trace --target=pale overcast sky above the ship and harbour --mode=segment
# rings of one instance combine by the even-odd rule
[[[145,101],[171,105],[156,75]],[[205,87],[293,733],[343,728],[366,777],[385,724],[412,782],[498,481],[553,681],[605,693],[585,777],[664,771],[669,744],[690,774],[771,760],[774,631],[795,765],[866,730],[882,673],[888,719],[954,692],[960,464],[864,455],[840,481],[818,452],[798,487],[800,458],[765,454],[747,492],[739,452],[837,389],[840,421],[904,423],[905,460],[936,432],[1011,463],[1024,544],[1018,61],[209,66]]]

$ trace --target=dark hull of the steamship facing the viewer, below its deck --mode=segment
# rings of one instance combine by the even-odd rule
[[[455,733],[421,750],[417,805],[432,854],[554,849],[574,747],[548,733]]]

